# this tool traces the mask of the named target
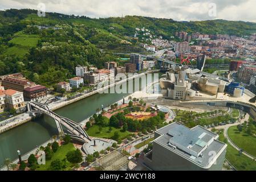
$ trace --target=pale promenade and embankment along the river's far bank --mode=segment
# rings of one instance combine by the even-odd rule
[[[97,90],[94,90],[94,91],[92,91],[90,93],[83,94],[83,96],[79,96],[79,97],[73,98],[72,100],[51,103],[51,104],[48,105],[48,107],[52,111],[58,110],[58,109],[60,109],[62,107],[65,107],[67,105],[73,104],[73,103],[78,102],[80,100],[83,100],[83,99],[85,99],[87,97],[93,96],[94,94],[101,93],[101,92],[103,92],[106,89],[112,88],[113,86],[123,84],[124,82],[127,82],[129,80],[133,80],[134,78],[141,77],[143,75],[147,75],[149,73],[157,73],[157,72],[160,72],[160,70],[153,70],[153,71],[147,71],[147,72],[144,72],[144,73],[140,73],[138,75],[134,75],[132,77],[126,78],[125,80],[121,80],[119,82],[115,82],[113,84],[105,86],[104,88],[97,89]],[[18,115],[18,116],[21,117],[21,115]],[[34,117],[30,117],[29,114],[23,114],[21,119],[19,119],[18,121],[15,120],[14,122],[8,123],[5,126],[0,126],[0,134],[5,133],[6,131],[9,131],[11,129],[14,129],[17,126],[21,126],[21,125],[31,121],[32,119],[34,119]]]

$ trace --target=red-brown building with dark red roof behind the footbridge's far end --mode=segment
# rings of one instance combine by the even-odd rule
[[[30,86],[24,89],[23,96],[26,101],[36,101],[47,96],[47,88],[42,85]]]

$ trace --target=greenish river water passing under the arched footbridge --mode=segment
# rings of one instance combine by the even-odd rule
[[[152,79],[150,79],[151,81],[155,81],[156,78],[160,77],[161,73],[152,75],[157,75],[157,77],[152,76]],[[148,79],[147,83],[151,81]],[[141,84],[141,80],[139,82],[139,88],[142,90],[145,85]],[[135,91],[135,80],[131,80],[126,84],[127,89],[133,87],[133,92]],[[156,86],[155,89],[159,90],[159,86]],[[74,104],[62,107],[55,112],[79,123],[95,114],[96,109],[101,108],[101,105],[107,107],[120,101],[123,97],[129,96],[129,94],[132,93],[98,93]],[[20,150],[22,155],[26,154],[36,146],[49,140],[53,135],[58,135],[55,121],[46,115],[42,115],[42,117],[36,118],[31,122],[27,122],[24,125],[0,134],[0,167],[6,158],[10,158],[11,160],[17,159],[17,150]]]

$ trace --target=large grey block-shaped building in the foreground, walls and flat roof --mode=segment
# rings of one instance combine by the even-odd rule
[[[154,171],[222,171],[227,144],[201,126],[174,122],[155,132],[145,165]]]

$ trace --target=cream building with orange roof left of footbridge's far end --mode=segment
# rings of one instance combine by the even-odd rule
[[[21,111],[26,106],[22,92],[7,89],[5,90],[5,95],[5,105],[8,109]]]

